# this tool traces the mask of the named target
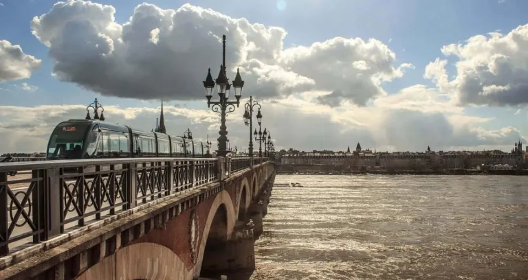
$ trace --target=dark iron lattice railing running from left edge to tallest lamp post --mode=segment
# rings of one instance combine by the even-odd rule
[[[9,176],[22,170],[31,174]],[[218,159],[210,158],[0,163],[0,256],[10,247],[216,182],[219,174]]]

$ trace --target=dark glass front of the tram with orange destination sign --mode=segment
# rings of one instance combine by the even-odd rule
[[[80,159],[89,124],[59,124],[47,147],[48,159]]]

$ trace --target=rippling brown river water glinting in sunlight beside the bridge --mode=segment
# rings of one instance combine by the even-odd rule
[[[251,279],[528,279],[527,182],[278,175]]]

